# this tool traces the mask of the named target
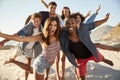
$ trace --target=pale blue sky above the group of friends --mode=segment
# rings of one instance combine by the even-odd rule
[[[51,0],[45,0],[49,3]],[[86,14],[89,10],[95,12],[99,4],[101,10],[96,20],[104,18],[109,12],[110,19],[105,24],[116,25],[120,22],[120,0],[53,0],[57,13],[61,14],[63,6],[68,6],[71,12]],[[39,0],[0,0],[0,30],[4,33],[16,33],[24,26],[26,17],[34,12],[47,10]]]

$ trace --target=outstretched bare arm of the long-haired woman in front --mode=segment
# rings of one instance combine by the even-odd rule
[[[6,38],[8,40],[14,40],[18,42],[34,42],[34,41],[42,41],[41,35],[29,36],[29,37],[20,37],[18,35],[8,35],[0,32],[0,37]]]

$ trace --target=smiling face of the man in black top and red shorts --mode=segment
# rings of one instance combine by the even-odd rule
[[[76,31],[76,21],[74,18],[69,18],[66,21],[66,28],[67,28],[69,33]]]

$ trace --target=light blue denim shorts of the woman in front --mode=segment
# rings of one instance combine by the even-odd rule
[[[45,70],[51,66],[52,64],[50,64],[42,55],[39,55],[33,63],[33,69],[38,74],[45,74]]]

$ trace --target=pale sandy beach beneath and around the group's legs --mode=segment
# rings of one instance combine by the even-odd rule
[[[24,80],[24,70],[15,64],[3,65],[5,59],[12,56],[14,49],[0,50],[0,80]],[[95,63],[89,61],[87,64],[86,80],[120,80],[120,52],[99,49],[108,59],[112,60],[114,66],[109,66],[103,62]],[[23,56],[18,56],[17,60],[24,62]],[[61,62],[60,62],[61,64]],[[49,80],[56,80],[55,64],[50,70]],[[66,59],[65,69],[66,80],[76,80],[74,67]],[[29,75],[28,80],[33,80],[33,74]]]

